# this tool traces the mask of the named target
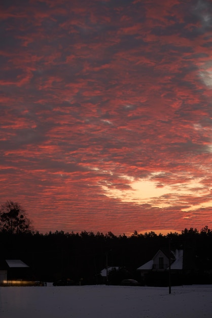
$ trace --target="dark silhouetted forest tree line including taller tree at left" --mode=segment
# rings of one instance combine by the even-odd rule
[[[69,278],[76,283],[102,283],[100,272],[108,266],[122,269],[122,278],[139,280],[136,269],[153,258],[158,249],[184,249],[190,281],[212,283],[212,230],[184,229],[167,235],[155,232],[127,237],[82,231],[34,231],[25,210],[12,201],[0,208],[2,259],[21,259],[29,268],[28,279],[54,281]],[[124,269],[124,270],[123,270]],[[120,275],[120,272],[117,273]]]

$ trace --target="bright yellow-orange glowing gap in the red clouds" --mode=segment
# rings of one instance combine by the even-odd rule
[[[158,208],[181,205],[182,201],[185,201],[183,198],[185,195],[187,197],[193,197],[194,189],[196,189],[199,197],[200,195],[209,194],[209,190],[201,184],[202,178],[196,180],[191,179],[187,183],[160,185],[158,182],[151,180],[151,178],[159,176],[160,174],[161,173],[153,173],[149,179],[138,179],[136,181],[130,176],[121,176],[121,178],[131,181],[130,189],[113,188],[110,187],[110,183],[108,183],[108,185],[101,185],[101,187],[105,195],[110,198],[120,199],[122,202],[151,204],[152,207]],[[186,202],[186,204],[188,203]],[[190,206],[189,210],[204,206],[212,206],[212,201],[197,206]],[[185,211],[188,211],[188,209],[185,209]]]

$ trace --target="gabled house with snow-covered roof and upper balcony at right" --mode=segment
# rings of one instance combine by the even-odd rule
[[[180,283],[183,274],[183,250],[170,251],[170,270],[173,281]],[[169,252],[159,249],[152,260],[137,268],[145,284],[167,284],[169,272]]]

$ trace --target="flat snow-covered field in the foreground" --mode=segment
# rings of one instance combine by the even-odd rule
[[[0,287],[1,318],[212,317],[212,285]]]

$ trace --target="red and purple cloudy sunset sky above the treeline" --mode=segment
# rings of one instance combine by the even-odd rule
[[[2,0],[0,203],[41,233],[212,227],[210,0]]]

